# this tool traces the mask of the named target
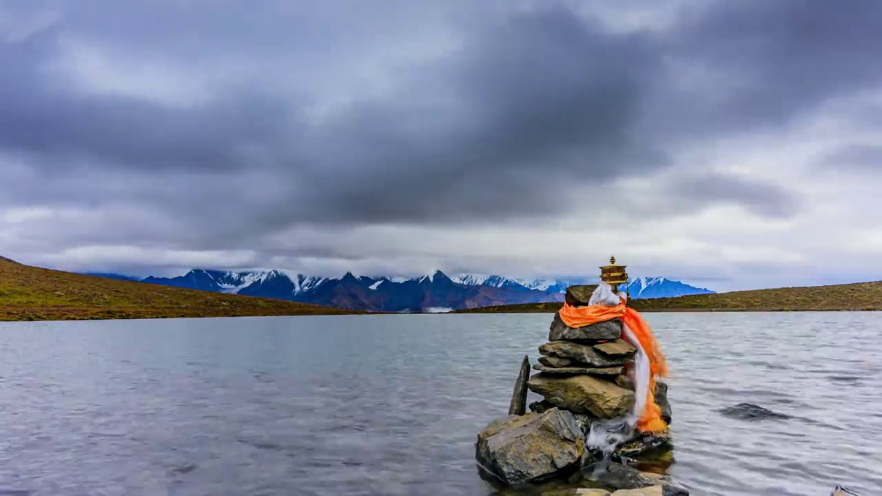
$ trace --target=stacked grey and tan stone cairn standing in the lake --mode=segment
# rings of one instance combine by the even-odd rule
[[[566,301],[587,305],[595,288],[571,286]],[[635,352],[620,319],[574,328],[556,313],[549,342],[539,347],[542,357],[532,367],[538,373],[529,377],[524,357],[508,417],[478,434],[475,458],[482,476],[504,488],[499,494],[534,493],[537,486],[549,496],[688,494],[668,476],[633,468],[672,461],[667,433],[641,434],[627,421],[636,399],[628,374]],[[530,403],[530,412],[527,389],[544,398]],[[657,382],[654,393],[670,424],[667,390]]]

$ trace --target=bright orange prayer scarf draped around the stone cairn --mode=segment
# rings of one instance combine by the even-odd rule
[[[652,329],[640,313],[628,308],[622,303],[617,306],[604,306],[593,304],[589,306],[571,306],[564,303],[560,310],[560,319],[569,327],[583,327],[596,324],[604,320],[619,318],[625,326],[631,329],[637,337],[640,348],[649,359],[649,390],[647,391],[647,403],[643,414],[637,420],[637,428],[640,432],[664,432],[668,425],[662,420],[662,409],[655,402],[655,378],[668,375],[668,363],[665,360],[659,343],[655,340]],[[627,337],[623,334],[623,337]],[[632,343],[637,344],[637,343]]]

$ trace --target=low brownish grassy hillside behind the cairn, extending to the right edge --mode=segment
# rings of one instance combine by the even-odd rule
[[[562,304],[512,304],[459,313],[557,312]],[[634,299],[640,312],[789,312],[882,310],[882,282],[857,282],[807,288],[754,289],[714,295]]]

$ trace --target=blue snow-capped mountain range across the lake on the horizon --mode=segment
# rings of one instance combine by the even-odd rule
[[[104,277],[126,278],[120,274]],[[290,274],[281,270],[221,271],[192,269],[178,277],[146,277],[141,282],[269,297],[375,312],[430,312],[497,304],[559,302],[572,284],[595,284],[598,279],[515,279],[502,275],[459,274],[441,271],[416,277],[364,276],[339,278]],[[641,277],[631,282],[631,297],[678,297],[712,293],[663,277]]]

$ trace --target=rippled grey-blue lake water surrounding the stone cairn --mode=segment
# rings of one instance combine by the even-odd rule
[[[882,493],[882,314],[645,316],[693,495]],[[0,323],[0,495],[486,495],[475,434],[550,319]]]

